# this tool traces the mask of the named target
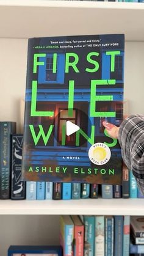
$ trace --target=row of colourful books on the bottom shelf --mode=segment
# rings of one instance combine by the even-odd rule
[[[144,254],[144,244],[132,244],[130,238],[130,227],[144,235],[143,220],[142,216],[61,216],[63,256]]]

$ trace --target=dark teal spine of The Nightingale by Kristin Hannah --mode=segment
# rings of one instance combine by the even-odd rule
[[[10,199],[12,133],[16,133],[16,123],[0,123],[0,199]]]

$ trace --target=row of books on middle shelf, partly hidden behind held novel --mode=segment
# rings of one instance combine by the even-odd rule
[[[132,172],[126,167],[123,167],[122,186],[21,181],[23,134],[15,134],[14,122],[0,122],[0,129],[0,199],[97,199],[98,195],[103,199],[143,197]]]

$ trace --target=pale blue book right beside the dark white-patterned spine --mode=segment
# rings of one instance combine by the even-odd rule
[[[26,199],[37,200],[37,181],[26,181]]]

